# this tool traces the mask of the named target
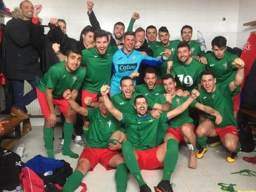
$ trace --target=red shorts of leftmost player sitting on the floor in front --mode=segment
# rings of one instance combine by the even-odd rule
[[[118,154],[119,153],[117,151],[110,151],[108,148],[98,149],[85,147],[79,159],[87,159],[91,164],[91,170],[93,170],[98,163],[101,163],[106,170],[111,170],[114,168],[108,166],[109,161],[112,159],[112,157]]]

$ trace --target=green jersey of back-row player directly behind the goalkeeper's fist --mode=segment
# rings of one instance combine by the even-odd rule
[[[157,49],[155,49],[154,57],[163,56],[163,52],[165,51],[165,49],[170,49],[172,51],[171,56],[165,62],[163,62],[162,65],[160,65],[160,74],[158,72],[157,79],[161,79],[163,76],[166,75],[167,62],[168,61],[173,61],[174,63],[179,61],[179,59],[177,57],[177,45],[179,43],[180,43],[180,40],[173,40],[173,41],[170,41],[170,45],[169,46],[163,47],[161,45]]]

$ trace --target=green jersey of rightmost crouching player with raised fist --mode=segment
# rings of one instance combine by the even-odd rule
[[[240,89],[240,87],[238,87]],[[236,120],[234,118],[233,112],[233,99],[234,92],[231,92],[229,84],[219,86],[216,85],[216,90],[212,93],[208,93],[204,88],[200,89],[200,96],[197,101],[203,105],[210,106],[211,108],[217,110],[222,116],[221,124],[215,124],[215,117],[210,114],[206,114],[215,127],[225,128],[229,125],[237,127]]]

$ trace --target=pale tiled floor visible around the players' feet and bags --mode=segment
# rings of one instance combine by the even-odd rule
[[[54,148],[57,148],[60,142],[61,129],[55,129]],[[16,151],[19,144],[25,145],[25,154],[28,157],[23,157],[22,161],[26,162],[35,155],[46,155],[44,142],[42,140],[42,127],[33,127],[33,131],[27,134],[24,138],[12,148]],[[71,145],[72,150],[76,153],[82,153],[82,148]],[[187,146],[181,146],[179,150],[179,159],[176,169],[172,175],[171,182],[176,185],[173,188],[174,192],[221,192],[218,182],[236,184],[234,188],[241,190],[256,190],[256,177],[241,176],[240,174],[230,174],[238,172],[242,169],[250,169],[256,171],[256,165],[242,160],[243,156],[255,156],[256,152],[239,153],[237,161],[234,163],[226,162],[226,150],[222,146],[216,148],[208,148],[206,156],[202,159],[197,159],[197,169],[188,168],[189,151]],[[73,169],[77,165],[77,159],[56,155],[57,159],[64,159],[69,162]],[[115,170],[106,171],[101,165],[97,165],[93,172],[87,173],[83,178],[86,183],[88,192],[114,192],[116,191],[114,181]],[[142,170],[142,176],[147,184],[151,187],[156,186],[161,180],[163,170],[146,171]],[[79,192],[78,188],[76,192]],[[131,174],[127,192],[139,192],[138,184]]]

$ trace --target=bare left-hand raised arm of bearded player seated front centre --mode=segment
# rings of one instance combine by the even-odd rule
[[[112,102],[109,100],[108,93],[109,93],[110,87],[108,85],[103,85],[101,87],[101,95],[103,97],[104,104],[108,111],[116,117],[118,121],[121,121],[123,119],[123,113],[121,113],[119,110],[117,110]]]

